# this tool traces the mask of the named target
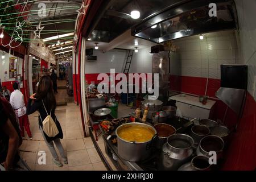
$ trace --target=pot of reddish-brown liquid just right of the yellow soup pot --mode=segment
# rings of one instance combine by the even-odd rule
[[[154,126],[156,132],[158,133],[158,137],[156,137],[154,141],[154,146],[159,150],[162,149],[164,143],[166,143],[167,138],[176,133],[175,127],[171,125],[167,125],[165,123],[159,123]]]

